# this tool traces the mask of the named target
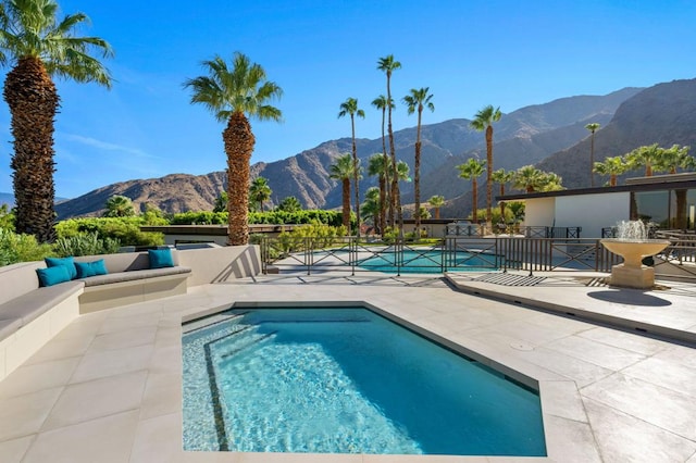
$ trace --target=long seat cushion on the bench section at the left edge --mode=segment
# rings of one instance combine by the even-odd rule
[[[82,281],[66,281],[38,288],[0,304],[0,321],[18,320],[20,326],[24,326],[83,288]],[[5,329],[9,329],[9,326],[5,326]]]

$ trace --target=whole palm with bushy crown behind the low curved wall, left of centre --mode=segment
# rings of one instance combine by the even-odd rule
[[[184,83],[194,95],[191,103],[201,103],[227,122],[222,133],[227,155],[228,242],[249,242],[249,161],[256,138],[249,117],[259,121],[281,121],[282,113],[269,101],[279,98],[283,90],[266,79],[265,71],[245,54],[236,52],[232,67],[219,55],[203,61],[208,76]]]

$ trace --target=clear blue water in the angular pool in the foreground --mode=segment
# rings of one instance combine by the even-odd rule
[[[184,448],[545,455],[538,395],[361,308],[184,326]]]

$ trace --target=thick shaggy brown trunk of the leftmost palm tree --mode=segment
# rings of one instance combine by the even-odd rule
[[[15,229],[42,242],[52,241],[53,122],[60,105],[55,85],[38,58],[22,58],[5,78],[3,96],[12,114],[14,138]]]

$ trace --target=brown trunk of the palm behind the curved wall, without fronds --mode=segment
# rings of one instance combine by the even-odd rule
[[[229,117],[222,133],[227,154],[227,241],[231,246],[249,242],[249,161],[256,139],[241,112]]]

